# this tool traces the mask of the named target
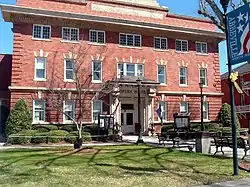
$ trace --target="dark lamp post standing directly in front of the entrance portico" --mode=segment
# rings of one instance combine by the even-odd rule
[[[144,143],[142,139],[142,128],[141,128],[141,82],[140,76],[138,76],[138,79],[136,80],[137,87],[138,87],[138,125],[139,125],[139,132],[138,132],[138,139],[137,144]]]

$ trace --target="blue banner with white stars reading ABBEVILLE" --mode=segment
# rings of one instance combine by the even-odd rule
[[[227,45],[230,64],[250,60],[250,4],[227,14]]]

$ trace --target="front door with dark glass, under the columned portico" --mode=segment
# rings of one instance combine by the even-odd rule
[[[121,105],[121,127],[123,134],[134,133],[135,110],[134,104]]]

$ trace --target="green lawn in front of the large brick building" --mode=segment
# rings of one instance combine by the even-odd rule
[[[229,158],[149,146],[8,149],[0,186],[186,187],[236,179],[232,168]]]

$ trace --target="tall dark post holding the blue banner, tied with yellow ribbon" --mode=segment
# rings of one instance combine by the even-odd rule
[[[226,39],[228,41],[228,33],[227,33],[227,9],[228,4],[230,0],[220,0],[220,4],[224,11],[224,24],[225,24],[225,33],[226,33]],[[229,54],[229,45],[227,44],[227,52]],[[229,55],[228,58],[228,82],[229,82],[229,88],[230,88],[230,98],[231,98],[231,117],[232,117],[232,141],[233,141],[233,166],[234,166],[234,175],[238,175],[238,153],[237,153],[237,135],[236,135],[236,119],[235,119],[235,104],[234,104],[234,87],[233,83],[230,79],[230,75],[232,73],[232,65],[230,62]]]

